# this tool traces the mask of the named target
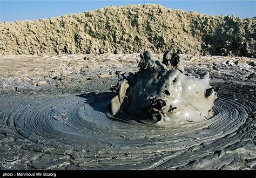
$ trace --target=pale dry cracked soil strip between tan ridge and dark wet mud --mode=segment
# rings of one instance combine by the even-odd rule
[[[154,56],[161,59],[162,55]],[[0,92],[47,92],[57,88],[62,92],[71,93],[86,91],[88,87],[85,87],[85,84],[114,83],[117,80],[116,71],[138,71],[137,59],[139,53],[97,56],[95,54],[1,56]],[[190,70],[194,68],[193,73],[196,74],[203,73],[202,70],[207,67],[207,70],[216,77],[246,80],[248,76],[254,75],[252,65],[255,65],[255,59],[253,58],[184,55],[184,60],[185,65]]]

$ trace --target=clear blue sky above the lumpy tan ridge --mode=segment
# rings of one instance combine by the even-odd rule
[[[95,10],[110,5],[160,4],[172,9],[197,11],[208,15],[256,16],[256,1],[2,1],[0,22],[35,20]]]

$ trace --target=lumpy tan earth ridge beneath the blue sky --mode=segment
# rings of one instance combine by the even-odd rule
[[[0,54],[136,53],[256,57],[256,17],[209,16],[144,4],[0,23]]]

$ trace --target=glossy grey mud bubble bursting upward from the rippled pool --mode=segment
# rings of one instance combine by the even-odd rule
[[[185,76],[182,57],[170,50],[162,62],[149,51],[141,53],[138,66],[138,73],[118,84],[117,95],[111,100],[114,117],[134,115],[147,124],[170,126],[213,116],[217,93],[209,84],[209,72],[199,78]]]

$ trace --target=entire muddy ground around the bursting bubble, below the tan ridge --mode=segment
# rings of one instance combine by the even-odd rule
[[[215,116],[158,128],[105,114],[115,71],[137,71],[138,53],[1,56],[1,169],[15,156],[11,169],[255,169],[255,59],[183,57],[221,86]]]

